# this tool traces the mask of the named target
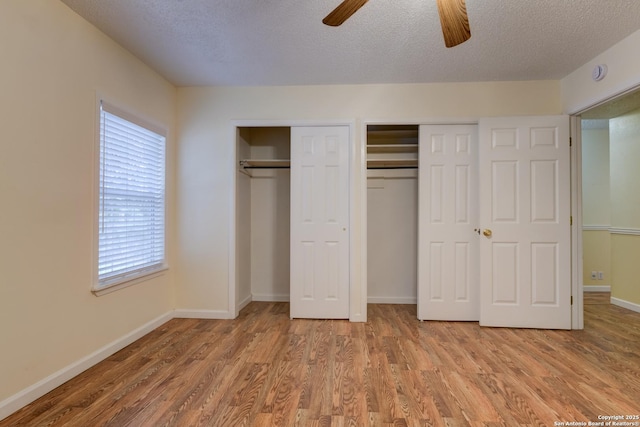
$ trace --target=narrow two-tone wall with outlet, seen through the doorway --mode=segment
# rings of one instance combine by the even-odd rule
[[[584,284],[611,285],[609,128],[582,131],[582,233]],[[592,279],[601,271],[602,280]]]

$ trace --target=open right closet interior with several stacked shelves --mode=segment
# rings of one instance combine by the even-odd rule
[[[415,304],[418,125],[367,126],[367,295]]]

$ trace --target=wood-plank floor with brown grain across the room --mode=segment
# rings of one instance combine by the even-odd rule
[[[290,320],[288,304],[251,303],[235,320],[171,320],[0,426],[554,426],[638,415],[640,313],[607,301],[585,295],[583,331],[419,322],[412,305],[370,305],[364,324]]]

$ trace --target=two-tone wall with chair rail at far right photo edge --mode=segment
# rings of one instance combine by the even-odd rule
[[[612,298],[640,304],[640,110],[609,121]]]

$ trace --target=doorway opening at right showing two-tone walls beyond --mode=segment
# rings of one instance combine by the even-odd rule
[[[640,312],[640,89],[581,114],[583,291]]]

